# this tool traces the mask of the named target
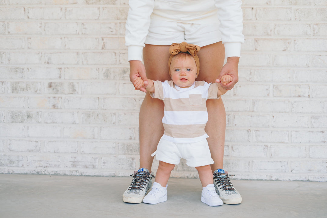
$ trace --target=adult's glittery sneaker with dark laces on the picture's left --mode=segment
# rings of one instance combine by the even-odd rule
[[[133,176],[133,175],[131,175]],[[134,172],[129,188],[123,194],[123,201],[128,203],[142,203],[144,196],[152,187],[153,172],[145,168]]]

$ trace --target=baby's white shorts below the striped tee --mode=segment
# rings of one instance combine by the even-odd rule
[[[173,143],[161,138],[154,155],[157,160],[175,165],[180,163],[181,158],[186,159],[190,167],[214,163],[206,139],[195,143]]]

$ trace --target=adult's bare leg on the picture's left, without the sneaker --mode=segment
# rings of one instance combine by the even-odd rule
[[[146,77],[152,80],[165,81],[168,74],[169,46],[149,45],[143,49],[143,62]],[[153,157],[160,138],[163,136],[163,101],[152,98],[149,93],[142,102],[139,116],[140,128],[140,168],[151,171]]]

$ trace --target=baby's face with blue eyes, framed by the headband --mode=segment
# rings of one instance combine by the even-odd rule
[[[194,58],[172,59],[170,73],[173,82],[181,88],[189,88],[197,78],[197,65]]]

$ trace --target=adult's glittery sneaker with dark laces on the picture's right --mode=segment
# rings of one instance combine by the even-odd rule
[[[223,169],[215,170],[214,184],[216,193],[224,204],[240,204],[242,202],[240,193],[235,190],[227,172],[225,173]]]

